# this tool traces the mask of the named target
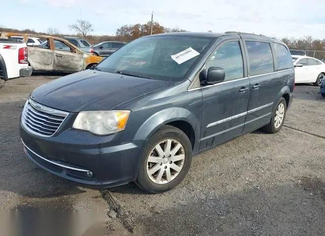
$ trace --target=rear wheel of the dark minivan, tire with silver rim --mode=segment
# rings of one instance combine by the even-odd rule
[[[280,116],[277,116],[277,113],[279,111],[280,111]],[[282,120],[281,120],[281,114],[282,114]],[[286,114],[286,101],[283,97],[281,97],[275,110],[273,111],[273,115],[270,123],[264,126],[263,129],[270,134],[275,134],[279,132],[283,126],[285,120],[285,114]],[[276,121],[280,122],[280,124],[276,123]]]

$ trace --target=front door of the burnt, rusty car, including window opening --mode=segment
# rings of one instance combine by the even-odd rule
[[[54,40],[54,47],[54,71],[77,72],[82,70],[82,54],[60,41]]]

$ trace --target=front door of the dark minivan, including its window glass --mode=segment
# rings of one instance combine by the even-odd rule
[[[240,135],[244,128],[249,80],[244,74],[243,45],[239,40],[226,41],[216,48],[206,62],[225,71],[224,82],[203,86],[200,150]]]

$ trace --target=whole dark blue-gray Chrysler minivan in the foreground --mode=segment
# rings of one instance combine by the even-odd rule
[[[33,91],[21,140],[30,160],[63,178],[167,191],[193,154],[261,127],[278,132],[294,84],[289,50],[273,38],[145,36]]]

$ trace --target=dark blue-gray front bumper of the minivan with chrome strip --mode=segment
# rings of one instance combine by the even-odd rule
[[[143,141],[121,144],[119,134],[101,137],[72,129],[42,138],[22,125],[20,135],[28,158],[54,175],[100,187],[136,180]]]

